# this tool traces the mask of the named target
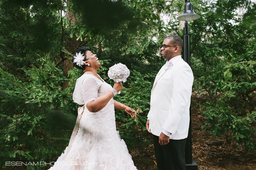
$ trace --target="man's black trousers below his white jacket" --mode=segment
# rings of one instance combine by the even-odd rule
[[[186,139],[170,139],[166,145],[160,145],[159,136],[153,135],[158,170],[186,170]]]

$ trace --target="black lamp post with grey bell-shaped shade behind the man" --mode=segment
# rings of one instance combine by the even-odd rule
[[[183,59],[190,66],[190,36],[189,36],[189,27],[188,21],[195,20],[200,18],[200,15],[197,15],[193,11],[193,5],[190,3],[190,0],[185,0],[185,11],[177,18],[178,20],[185,21],[184,35],[183,35]],[[185,161],[186,161],[186,170],[197,170],[196,161],[192,160],[192,137],[191,137],[191,107],[189,109],[190,121],[188,129],[188,138],[185,149]]]

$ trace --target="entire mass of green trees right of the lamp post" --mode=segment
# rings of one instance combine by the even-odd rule
[[[203,128],[230,132],[247,151],[256,147],[255,7],[247,0],[204,1],[201,19],[190,27],[194,91],[206,100],[200,104],[208,120]]]

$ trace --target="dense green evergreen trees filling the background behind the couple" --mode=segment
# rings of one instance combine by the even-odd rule
[[[255,151],[256,4],[249,0],[193,0],[190,21],[192,96],[212,135],[228,133]],[[119,62],[131,71],[115,96],[135,110],[116,111],[128,149],[150,143],[145,130],[150,91],[164,65],[165,36],[183,37],[177,17],[184,0],[0,0],[0,164],[57,158],[68,145],[77,108],[72,93],[82,75],[70,58],[77,47],[97,54],[99,74]],[[57,134],[57,135],[56,135]],[[57,137],[56,137],[57,136]],[[60,149],[61,148],[61,149]],[[56,161],[56,160],[52,160]],[[28,166],[42,169],[42,166]]]

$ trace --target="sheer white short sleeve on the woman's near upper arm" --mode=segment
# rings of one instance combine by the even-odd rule
[[[98,97],[99,87],[100,85],[94,78],[88,78],[83,81],[82,93],[85,105]]]

